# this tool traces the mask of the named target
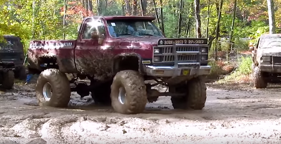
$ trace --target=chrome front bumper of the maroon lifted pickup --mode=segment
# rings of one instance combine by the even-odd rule
[[[175,66],[146,66],[145,72],[154,77],[200,76],[208,75],[211,66],[175,67]]]

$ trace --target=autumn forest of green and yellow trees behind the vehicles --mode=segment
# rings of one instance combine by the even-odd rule
[[[21,37],[27,51],[31,40],[76,39],[97,15],[152,16],[167,38],[208,38],[218,82],[249,82],[249,43],[281,31],[281,0],[0,0],[0,35]]]

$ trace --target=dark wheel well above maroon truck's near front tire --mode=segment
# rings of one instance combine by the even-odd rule
[[[114,60],[113,71],[115,73],[123,70],[139,70],[139,57],[136,55],[119,56]]]

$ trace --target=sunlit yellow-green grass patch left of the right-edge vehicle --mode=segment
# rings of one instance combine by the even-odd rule
[[[244,83],[251,80],[251,56],[239,58],[239,67],[216,83]]]

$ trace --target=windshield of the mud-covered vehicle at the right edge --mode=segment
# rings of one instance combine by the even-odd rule
[[[262,37],[258,48],[281,47],[281,37]]]

